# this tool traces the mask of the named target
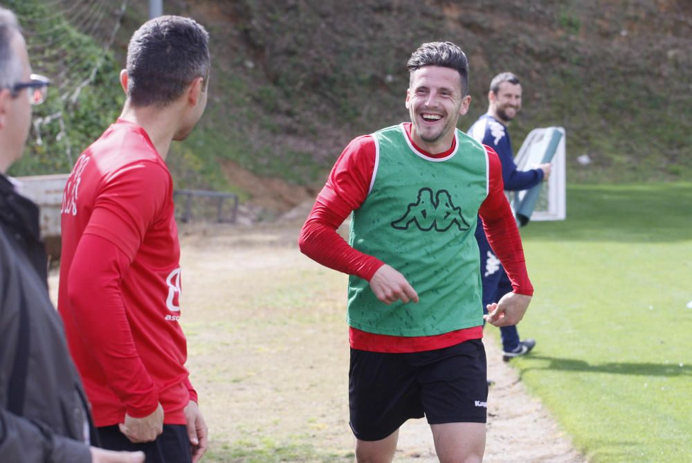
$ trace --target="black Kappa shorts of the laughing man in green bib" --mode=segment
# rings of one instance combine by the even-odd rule
[[[430,424],[485,423],[487,399],[480,339],[409,354],[351,349],[350,425],[358,439],[384,439],[424,416]]]

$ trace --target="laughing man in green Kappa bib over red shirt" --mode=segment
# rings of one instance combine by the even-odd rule
[[[356,461],[391,462],[401,424],[425,415],[440,462],[480,462],[488,395],[483,318],[518,323],[533,287],[498,155],[456,129],[471,102],[466,55],[450,42],[423,44],[408,69],[411,122],[349,143],[299,245],[351,275]],[[336,229],[351,214],[347,243]],[[473,236],[479,214],[513,284],[486,316]]]

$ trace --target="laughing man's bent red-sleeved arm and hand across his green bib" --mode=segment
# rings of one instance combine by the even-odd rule
[[[381,260],[357,251],[336,232],[349,214],[359,208],[370,190],[375,163],[371,136],[353,140],[344,149],[300,230],[300,251],[329,267],[370,282],[375,296],[390,304],[418,295],[406,278]]]

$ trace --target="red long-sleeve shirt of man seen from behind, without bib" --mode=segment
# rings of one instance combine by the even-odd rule
[[[180,246],[168,169],[144,129],[118,120],[78,158],[62,203],[58,309],[96,426],[185,424],[197,400],[179,325]]]

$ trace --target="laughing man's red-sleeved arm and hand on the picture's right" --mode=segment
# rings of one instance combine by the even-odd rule
[[[493,149],[486,147],[486,151],[490,170],[489,192],[479,213],[488,242],[502,262],[513,288],[498,304],[488,307],[486,320],[495,326],[516,325],[529,307],[534,287],[526,270],[519,230],[504,196],[500,160]]]

